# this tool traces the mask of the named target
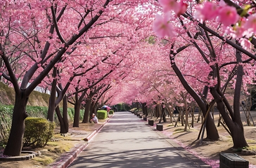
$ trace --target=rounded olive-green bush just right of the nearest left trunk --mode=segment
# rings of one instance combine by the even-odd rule
[[[26,118],[23,146],[44,147],[53,137],[55,123],[45,118]]]

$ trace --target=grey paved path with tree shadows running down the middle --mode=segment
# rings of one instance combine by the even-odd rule
[[[209,167],[188,155],[134,114],[117,112],[69,167]]]

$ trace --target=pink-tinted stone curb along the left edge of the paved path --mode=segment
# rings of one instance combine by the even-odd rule
[[[110,116],[110,118],[112,118],[112,116]],[[88,146],[88,142],[98,133],[101,131],[101,129],[104,127],[104,125],[106,123],[108,123],[108,121],[110,120],[110,118],[108,118],[108,120],[106,120],[101,127],[98,127],[96,130],[94,130],[94,132],[91,132],[91,134],[89,134],[85,139],[83,139],[84,141],[87,141],[86,144],[78,144],[77,146],[74,147],[74,149],[68,153],[65,153],[64,155],[61,155],[60,158],[58,158],[58,160],[56,160],[56,162],[53,162],[51,165],[47,166],[48,168],[53,167],[53,168],[65,168],[68,167],[68,165],[70,165],[70,163],[75,160],[75,158],[77,158],[77,156],[79,155],[79,153],[81,153],[84,148],[86,148]]]

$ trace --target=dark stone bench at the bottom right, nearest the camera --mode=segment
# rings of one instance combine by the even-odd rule
[[[219,153],[219,168],[248,168],[249,162],[236,153]]]

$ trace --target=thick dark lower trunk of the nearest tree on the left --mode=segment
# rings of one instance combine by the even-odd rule
[[[20,94],[15,94],[15,104],[13,107],[13,122],[10,136],[4,149],[4,155],[19,156],[23,147],[23,135],[25,132],[25,111],[28,97],[25,91],[20,90]]]

